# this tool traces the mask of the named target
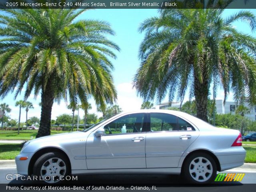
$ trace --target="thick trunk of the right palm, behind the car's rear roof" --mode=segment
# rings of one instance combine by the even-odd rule
[[[207,79],[207,78],[204,78]],[[196,101],[196,117],[208,122],[207,103],[208,103],[208,81],[200,83],[198,77],[194,76],[194,94]]]

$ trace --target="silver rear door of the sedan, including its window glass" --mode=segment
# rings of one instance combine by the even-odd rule
[[[198,138],[197,131],[184,119],[166,113],[150,113],[146,132],[147,168],[176,168],[184,151]]]

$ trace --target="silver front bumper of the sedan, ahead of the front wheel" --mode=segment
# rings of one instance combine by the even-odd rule
[[[34,153],[20,153],[15,158],[18,174],[28,175],[28,165]],[[20,157],[27,157],[27,160],[20,160]]]

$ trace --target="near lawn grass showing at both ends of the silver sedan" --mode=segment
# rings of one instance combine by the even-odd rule
[[[21,150],[21,144],[1,144],[0,160],[14,159]],[[246,163],[256,163],[256,146],[243,146],[246,150]]]

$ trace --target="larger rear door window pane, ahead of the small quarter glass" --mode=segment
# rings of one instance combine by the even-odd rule
[[[150,114],[150,131],[177,131],[177,117],[165,113]]]

